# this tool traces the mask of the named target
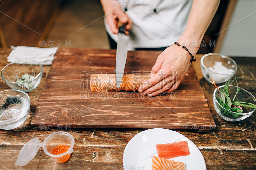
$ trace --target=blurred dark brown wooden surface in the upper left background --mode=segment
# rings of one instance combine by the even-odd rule
[[[40,40],[45,40],[60,3],[61,0],[0,1],[0,23],[7,47],[38,46]]]

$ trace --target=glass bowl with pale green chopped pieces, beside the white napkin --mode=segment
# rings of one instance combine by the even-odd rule
[[[2,69],[1,77],[12,89],[30,92],[40,83],[42,73],[43,67],[37,61],[18,60],[7,64]]]

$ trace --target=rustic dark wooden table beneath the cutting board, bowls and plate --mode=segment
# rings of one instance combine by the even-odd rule
[[[10,49],[0,49],[0,69],[8,64],[6,57],[10,52]],[[199,133],[193,129],[175,131],[185,135],[200,149],[207,169],[255,169],[256,114],[254,113],[239,122],[227,122],[217,115],[212,101],[214,87],[202,78],[201,56],[200,54],[196,56],[197,61],[193,63],[193,66],[217,126],[210,133]],[[236,73],[236,76],[241,78],[239,85],[252,94],[256,94],[256,77],[254,76],[256,74],[256,58],[234,57],[233,59],[239,65]],[[50,66],[43,66],[43,69],[43,77],[39,86],[28,93],[31,99],[31,108],[24,124],[13,130],[0,130],[0,169],[123,169],[122,156],[126,144],[134,135],[144,129],[72,129],[72,127],[62,127],[63,131],[68,131],[75,139],[74,152],[66,163],[55,163],[40,148],[34,159],[27,165],[22,167],[14,165],[21,147],[30,139],[39,138],[42,142],[49,134],[59,131],[36,131],[34,127],[30,126]],[[0,79],[0,91],[7,89],[11,88]],[[126,170],[130,169],[126,168]]]

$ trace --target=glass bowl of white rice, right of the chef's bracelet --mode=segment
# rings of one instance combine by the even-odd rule
[[[212,83],[211,78],[215,84],[224,83],[237,71],[237,64],[234,60],[217,53],[205,54],[200,63],[204,78],[209,83]]]

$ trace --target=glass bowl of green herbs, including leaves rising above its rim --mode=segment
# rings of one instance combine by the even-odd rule
[[[233,82],[236,82],[236,86],[232,85]],[[244,120],[256,110],[255,97],[247,90],[238,87],[236,78],[229,79],[223,86],[215,85],[215,87],[214,108],[224,120],[230,122]]]

